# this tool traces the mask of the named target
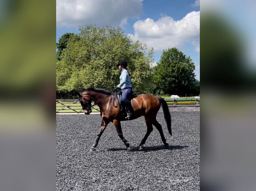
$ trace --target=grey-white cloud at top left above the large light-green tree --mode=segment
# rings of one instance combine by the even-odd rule
[[[127,18],[137,18],[143,0],[56,0],[56,26],[78,27],[126,24]]]

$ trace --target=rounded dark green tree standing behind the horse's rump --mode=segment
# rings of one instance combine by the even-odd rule
[[[153,92],[185,94],[195,81],[195,64],[177,48],[164,50],[160,62],[153,68]]]

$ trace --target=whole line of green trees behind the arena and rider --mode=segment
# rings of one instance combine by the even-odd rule
[[[120,27],[86,25],[79,34],[65,33],[56,43],[56,98],[95,87],[112,91],[119,84],[116,64],[125,59],[137,94],[200,94],[195,64],[177,48],[163,50],[152,67],[153,48],[133,42]]]

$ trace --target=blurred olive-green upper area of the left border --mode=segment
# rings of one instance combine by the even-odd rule
[[[42,87],[56,86],[56,2],[5,0],[2,6],[1,92],[30,96]]]

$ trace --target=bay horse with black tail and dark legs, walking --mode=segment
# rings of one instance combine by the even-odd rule
[[[96,151],[99,139],[110,122],[114,123],[118,136],[124,142],[125,146],[127,147],[127,150],[132,150],[132,147],[130,146],[129,142],[123,136],[120,121],[123,121],[124,118],[121,115],[119,105],[116,104],[116,97],[112,94],[112,92],[108,92],[106,90],[98,88],[89,88],[83,91],[82,93],[77,92],[83,112],[85,114],[90,114],[92,112],[93,106],[92,101],[94,101],[94,103],[99,106],[102,117],[100,130],[96,136],[93,146],[90,148],[90,151]],[[156,129],[159,131],[163,144],[168,145],[163,135],[162,126],[156,120],[157,112],[162,106],[164,119],[167,124],[168,131],[170,135],[172,135],[171,116],[166,101],[162,97],[148,94],[140,94],[131,100],[131,104],[134,112],[130,120],[136,119],[140,116],[144,116],[147,125],[147,132],[139,145],[139,150],[143,149],[143,145],[145,144],[149,134],[153,130],[152,125],[154,125]]]

